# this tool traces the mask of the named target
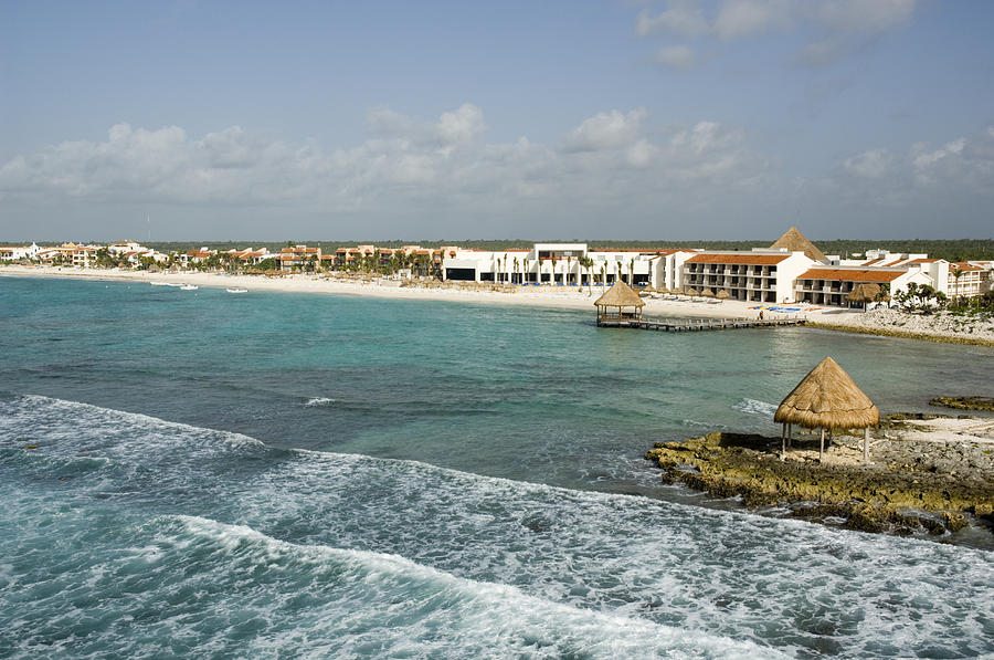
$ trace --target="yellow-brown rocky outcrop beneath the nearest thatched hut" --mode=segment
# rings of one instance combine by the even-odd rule
[[[881,425],[868,465],[857,438],[837,437],[819,463],[814,436],[795,439],[782,461],[780,438],[729,432],[657,442],[645,458],[666,483],[741,496],[747,506],[785,506],[813,522],[906,536],[994,531],[994,438],[986,437],[994,420],[909,417],[921,416]],[[930,427],[938,422],[944,430]],[[948,430],[976,426],[979,436]]]

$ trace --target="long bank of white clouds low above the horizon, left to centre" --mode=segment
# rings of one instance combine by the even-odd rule
[[[330,149],[237,126],[198,138],[176,126],[120,124],[102,142],[52,145],[0,165],[0,196],[8,209],[156,203],[396,217],[424,205],[476,217],[528,203],[649,212],[691,198],[706,207],[715,189],[744,189],[766,168],[734,129],[700,122],[648,130],[647,121],[644,108],[611,109],[554,145],[488,144],[479,139],[483,113],[469,104],[434,123],[376,108],[367,115],[376,135]]]

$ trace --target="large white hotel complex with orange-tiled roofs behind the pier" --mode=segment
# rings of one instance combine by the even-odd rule
[[[593,265],[581,265],[589,258]],[[867,251],[864,259],[826,256],[795,228],[773,247],[748,252],[715,250],[590,250],[586,243],[536,243],[530,250],[482,251],[447,248],[443,279],[558,286],[611,285],[696,291],[755,303],[806,302],[846,306],[860,283],[890,294],[928,284],[948,296],[982,295],[994,284],[994,264],[951,264],[926,254]]]

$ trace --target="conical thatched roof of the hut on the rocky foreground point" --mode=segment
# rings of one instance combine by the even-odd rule
[[[773,421],[808,429],[876,426],[880,411],[834,359],[826,357],[780,404]]]

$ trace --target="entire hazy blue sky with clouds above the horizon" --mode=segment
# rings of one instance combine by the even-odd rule
[[[994,2],[0,0],[0,240],[994,237]]]

